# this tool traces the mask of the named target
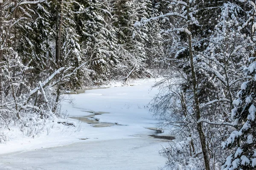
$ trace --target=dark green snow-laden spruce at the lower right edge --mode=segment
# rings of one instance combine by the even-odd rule
[[[235,119],[236,130],[230,134],[222,147],[233,148],[227,157],[223,170],[246,169],[254,170],[256,167],[256,62],[253,61],[247,68],[247,75],[251,79],[241,85],[239,98],[233,104],[232,116]]]

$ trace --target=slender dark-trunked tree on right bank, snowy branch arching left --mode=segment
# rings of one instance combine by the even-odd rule
[[[200,110],[200,102],[199,102],[199,96],[198,96],[198,79],[195,71],[195,64],[194,64],[194,49],[193,49],[193,42],[192,42],[192,32],[191,32],[191,25],[198,24],[198,21],[193,16],[194,13],[194,6],[193,3],[190,1],[183,2],[183,1],[171,1],[170,3],[170,12],[166,13],[164,15],[160,15],[158,17],[153,17],[148,20],[143,20],[141,23],[146,23],[150,20],[163,18],[163,17],[172,17],[172,24],[166,32],[180,32],[181,34],[184,34],[186,36],[185,42],[186,42],[186,50],[188,52],[188,55],[185,59],[185,62],[189,63],[189,72],[186,75],[187,81],[189,82],[189,88],[192,91],[192,103],[194,105],[192,106],[192,115],[194,115],[194,119],[196,120],[196,130],[198,133],[199,141],[201,144],[201,150],[203,152],[203,158],[204,158],[204,165],[205,169],[210,169],[209,164],[209,151],[207,150],[207,143],[206,143],[206,136],[203,130],[203,122],[201,122],[202,116],[201,116],[201,110]],[[137,23],[138,25],[140,23]],[[190,74],[191,73],[191,74]],[[161,100],[161,99],[160,99]],[[159,103],[159,102],[157,102]],[[161,105],[161,104],[160,104]],[[155,107],[158,107],[157,105]],[[186,116],[185,116],[186,117]],[[189,136],[188,136],[189,137]],[[194,152],[195,153],[195,152]]]

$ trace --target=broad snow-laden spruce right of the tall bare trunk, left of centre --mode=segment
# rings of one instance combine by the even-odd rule
[[[111,24],[110,9],[104,1],[84,0],[85,10],[76,16],[81,48],[88,61],[88,68],[95,71],[92,79],[95,83],[108,81],[116,60],[116,37]]]

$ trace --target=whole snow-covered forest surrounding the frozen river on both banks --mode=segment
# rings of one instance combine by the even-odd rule
[[[255,170],[255,43],[253,0],[0,0],[0,143],[61,118],[64,93],[162,77],[164,168]]]

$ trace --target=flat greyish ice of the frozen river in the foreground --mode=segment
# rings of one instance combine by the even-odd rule
[[[157,170],[161,141],[148,138],[82,142],[0,156],[0,170]]]

